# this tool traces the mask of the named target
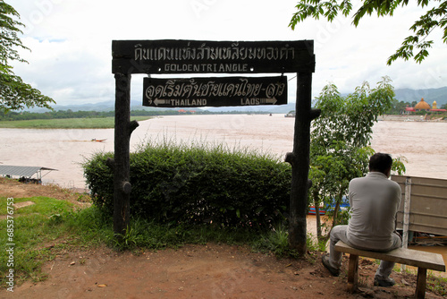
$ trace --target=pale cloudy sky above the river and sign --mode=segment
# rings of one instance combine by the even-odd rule
[[[420,8],[405,7],[392,17],[373,15],[355,28],[349,18],[308,20],[291,30],[297,0],[6,0],[21,14],[21,50],[29,64],[14,73],[58,105],[114,100],[112,40],[302,40],[315,43],[312,97],[328,83],[350,93],[368,81],[389,76],[395,89],[447,86],[447,46],[434,31],[434,47],[422,64],[387,58],[410,35]],[[354,4],[356,7],[358,4]],[[132,75],[131,100],[142,100],[145,75]],[[296,81],[289,77],[289,102]],[[416,100],[416,98],[415,98]]]

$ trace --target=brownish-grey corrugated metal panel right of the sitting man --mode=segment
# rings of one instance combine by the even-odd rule
[[[405,184],[411,178],[409,230],[435,235],[447,235],[447,180],[426,177],[392,175],[402,189],[398,228],[403,225]]]

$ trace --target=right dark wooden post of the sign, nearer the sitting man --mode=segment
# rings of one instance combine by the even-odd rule
[[[308,209],[308,167],[310,150],[310,122],[320,115],[311,109],[312,73],[298,73],[297,102],[293,151],[285,161],[291,164],[291,202],[289,216],[289,243],[303,255],[307,252],[308,237],[306,211]]]

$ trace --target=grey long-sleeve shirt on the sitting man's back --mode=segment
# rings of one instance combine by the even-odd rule
[[[350,181],[349,192],[348,241],[364,249],[390,248],[401,204],[401,186],[380,172],[370,172]]]

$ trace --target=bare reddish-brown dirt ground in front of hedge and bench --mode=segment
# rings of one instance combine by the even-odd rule
[[[0,196],[48,196],[77,202],[78,195],[55,186],[20,184],[0,178]],[[81,203],[80,205],[85,205]],[[347,292],[347,261],[334,278],[319,252],[307,259],[277,259],[245,246],[208,243],[157,252],[115,252],[77,248],[55,252],[42,271],[46,280],[26,281],[0,298],[411,298],[412,274],[393,273],[392,287],[373,286],[377,265],[361,260],[360,287]],[[426,292],[426,298],[443,298]]]

